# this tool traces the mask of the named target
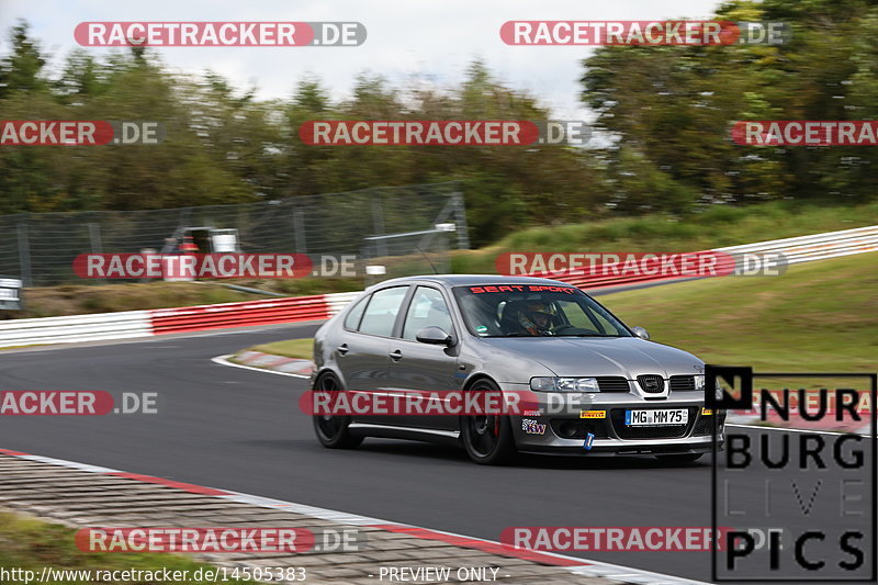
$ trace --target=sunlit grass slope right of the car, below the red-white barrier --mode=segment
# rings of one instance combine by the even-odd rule
[[[878,254],[793,265],[781,277],[724,277],[601,296],[652,340],[709,363],[763,371],[878,369]]]

